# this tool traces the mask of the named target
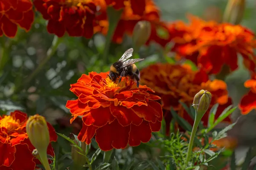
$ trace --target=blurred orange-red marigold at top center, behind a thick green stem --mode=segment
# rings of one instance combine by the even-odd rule
[[[151,23],[151,36],[148,41],[154,40],[159,42],[160,37],[157,35],[156,29],[158,27],[165,27],[163,22],[160,22],[160,10],[154,4],[153,0],[141,0],[139,2],[135,0],[106,0],[109,2],[116,2],[116,8],[123,8],[121,18],[116,26],[116,31],[113,34],[113,42],[122,43],[125,34],[132,35],[134,26],[141,20],[146,20]],[[119,5],[117,5],[119,4]],[[115,6],[114,6],[115,8]],[[97,16],[99,20],[99,26],[97,30],[106,35],[108,32],[108,16],[106,7],[102,7],[102,13]],[[168,32],[166,27],[166,32]]]

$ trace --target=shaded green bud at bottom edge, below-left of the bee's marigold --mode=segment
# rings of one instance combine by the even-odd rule
[[[78,144],[78,142],[76,140],[74,140],[74,142],[76,144]],[[85,142],[81,142],[81,148],[83,150],[83,154],[85,155],[85,150],[86,150],[86,144]],[[74,169],[82,169],[83,165],[86,163],[86,158],[85,156],[81,155],[81,150],[79,150],[77,147],[72,146],[71,149],[71,156],[72,156],[72,160],[73,160],[73,164],[74,164]]]

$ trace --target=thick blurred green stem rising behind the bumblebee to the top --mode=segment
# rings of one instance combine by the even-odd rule
[[[108,64],[108,53],[109,53],[110,44],[113,38],[113,34],[116,30],[116,26],[121,17],[122,11],[123,11],[122,9],[117,11],[111,6],[107,8],[109,26],[108,26],[108,34],[106,36],[105,48],[104,48],[103,57],[102,57],[103,58],[103,63],[101,68],[102,70],[103,70],[103,65]]]

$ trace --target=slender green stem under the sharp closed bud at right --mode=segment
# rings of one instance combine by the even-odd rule
[[[191,136],[190,136],[190,139],[189,139],[189,148],[188,148],[188,153],[187,153],[187,156],[186,156],[186,164],[188,164],[189,161],[190,161],[190,157],[191,157],[192,149],[193,149],[193,144],[194,144],[194,139],[195,139],[195,133],[197,131],[197,128],[198,128],[198,125],[201,121],[201,118],[202,118],[202,116],[198,117],[197,114],[195,114],[195,122],[194,122],[192,132],[191,132]]]

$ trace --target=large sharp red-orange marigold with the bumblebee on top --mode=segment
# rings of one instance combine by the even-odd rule
[[[78,99],[67,101],[73,122],[82,116],[83,127],[78,135],[81,142],[90,144],[95,135],[101,150],[138,146],[148,142],[151,132],[161,128],[163,111],[154,100],[160,97],[150,88],[140,86],[124,77],[119,84],[106,78],[107,73],[90,72],[83,74],[77,83],[72,84],[72,91]]]

